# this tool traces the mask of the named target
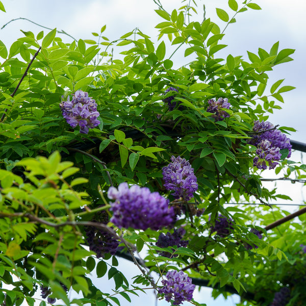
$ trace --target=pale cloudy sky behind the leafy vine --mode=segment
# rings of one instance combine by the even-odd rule
[[[242,0],[237,0],[241,5]],[[18,17],[29,18],[32,21],[48,28],[64,30],[76,39],[92,39],[91,32],[99,32],[100,28],[107,24],[104,33],[110,40],[115,40],[123,34],[132,31],[136,27],[143,33],[149,35],[152,40],[157,41],[158,31],[155,25],[163,21],[155,12],[156,5],[151,0],[2,0],[7,13],[0,12],[0,27],[10,20]],[[162,0],[164,7],[171,11],[181,6],[178,0]],[[304,101],[305,70],[304,56],[306,54],[306,2],[301,0],[257,0],[263,10],[248,10],[237,16],[237,23],[230,24],[226,30],[224,43],[228,47],[223,54],[233,56],[243,55],[245,59],[246,50],[257,53],[258,47],[269,50],[271,46],[279,41],[280,48],[296,49],[293,54],[294,61],[275,67],[270,73],[270,84],[279,79],[285,79],[282,85],[295,86],[296,89],[284,93],[285,104],[283,109],[276,111],[270,117],[274,124],[292,126],[298,130],[291,138],[297,141],[306,142],[305,113],[306,103]],[[206,16],[211,17],[220,27],[225,23],[219,20],[215,8],[225,9],[230,16],[232,11],[227,6],[227,0],[202,0],[198,1],[199,13],[202,16],[202,6],[206,5]],[[197,17],[199,20],[199,18]],[[39,33],[42,29],[25,20],[14,21],[0,31],[0,40],[7,46],[23,34],[19,30]],[[45,30],[45,34],[48,30]],[[69,37],[62,36],[65,41]],[[222,41],[222,43],[223,43]],[[176,63],[186,64],[190,60],[184,59],[182,54],[175,58]],[[226,56],[225,55],[225,56]],[[131,270],[134,265],[120,265],[119,269]],[[102,288],[112,285],[113,281],[108,279],[97,279],[96,284]],[[102,289],[103,290],[103,289]],[[195,297],[199,302],[206,302],[208,306],[235,305],[233,301],[223,301],[222,298],[213,301],[208,289],[202,289]],[[154,306],[155,299],[152,294],[142,296],[132,302],[133,306],[143,305]],[[236,298],[236,301],[237,298]],[[128,304],[123,302],[122,306]],[[169,303],[161,301],[159,306]],[[188,303],[186,303],[188,304]]]

